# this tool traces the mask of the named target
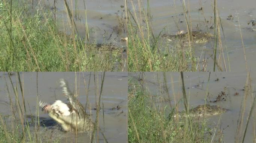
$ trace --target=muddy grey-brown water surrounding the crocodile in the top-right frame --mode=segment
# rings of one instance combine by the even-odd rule
[[[182,0],[150,0],[150,12],[153,16],[153,33],[159,35],[159,32],[163,31],[165,34],[175,34],[179,30],[187,31],[185,15],[182,7]],[[256,60],[255,54],[255,39],[256,31],[252,31],[252,21],[256,19],[256,9],[255,0],[219,0],[217,1],[217,7],[219,10],[219,16],[221,18],[225,39],[223,36],[222,29],[222,46],[224,48],[224,57],[226,60],[227,71],[229,71],[228,66],[228,56],[231,71],[245,71],[245,60],[243,47],[241,44],[241,36],[238,24],[238,18],[241,25],[241,33],[243,35],[244,46],[246,58],[248,61],[249,69],[255,70],[253,66],[253,61]],[[138,4],[134,2],[135,6]],[[144,1],[144,6],[146,7],[146,1]],[[199,10],[200,8],[203,10]],[[214,29],[210,27],[214,24],[214,13],[213,13],[213,1],[200,1],[200,0],[189,0],[189,4],[186,3],[186,9],[189,9],[188,14],[191,15],[192,30],[196,31],[198,29],[202,32],[209,31],[214,34]],[[238,17],[237,17],[238,14]],[[228,16],[234,16],[234,20],[227,20]],[[177,16],[177,17],[176,17]],[[210,17],[213,18],[210,18]],[[188,20],[189,20],[188,15]],[[205,22],[209,21],[208,23]],[[250,24],[247,23],[250,21]],[[256,21],[256,20],[255,20]],[[178,28],[179,27],[179,28]],[[256,26],[254,26],[256,28]],[[163,34],[162,32],[162,34]],[[196,56],[200,56],[202,51],[202,58],[208,60],[207,70],[213,71],[213,59],[211,54],[213,54],[214,41],[207,44],[196,45]],[[228,49],[228,54],[226,52]],[[205,56],[204,56],[205,55]],[[223,58],[223,55],[221,55]],[[224,65],[222,61],[222,65]],[[200,63],[202,66],[202,63]],[[225,69],[223,68],[223,71]]]

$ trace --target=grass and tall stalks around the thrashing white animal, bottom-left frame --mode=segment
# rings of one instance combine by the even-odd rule
[[[92,74],[92,73],[91,73]],[[89,80],[85,80],[85,76],[83,74],[79,74],[79,76],[76,76],[74,79],[75,82],[75,90],[74,93],[79,95],[80,89],[77,88],[77,82],[80,80],[83,81],[84,86],[85,86],[85,93],[86,93],[86,103],[83,105],[85,109],[87,108],[87,111],[91,111],[91,102],[88,99],[88,92],[89,92],[89,87],[90,87],[90,82],[91,82],[91,74],[89,75]],[[22,73],[21,73],[22,75]],[[20,77],[18,73],[16,73],[16,81],[13,81],[10,76],[10,73],[8,73],[9,80],[5,79],[6,81],[6,90],[7,90],[7,95],[9,98],[9,105],[10,105],[10,114],[9,115],[2,115],[0,114],[0,142],[1,143],[34,143],[34,142],[39,142],[39,143],[60,143],[63,142],[65,139],[61,139],[60,136],[58,136],[58,133],[60,132],[60,129],[58,127],[45,127],[43,123],[41,123],[42,119],[40,119],[40,114],[39,112],[39,102],[38,102],[38,87],[37,84],[37,101],[36,101],[36,109],[34,110],[35,112],[31,112],[30,108],[30,103],[24,99],[23,95],[19,95],[19,93],[23,92],[24,85],[23,79]],[[38,77],[38,74],[37,74]],[[36,77],[36,78],[37,78]],[[96,103],[96,118],[93,121],[94,122],[94,130],[91,134],[91,143],[99,143],[100,137],[99,134],[103,135],[104,142],[108,142],[106,137],[105,137],[105,130],[101,130],[99,127],[99,118],[100,116],[100,109],[103,109],[104,112],[104,106],[103,101],[102,101],[102,92],[103,92],[103,87],[104,87],[104,78],[105,78],[105,72],[103,73],[95,73],[93,75],[94,77],[94,85],[95,86],[95,103]],[[5,76],[4,76],[5,78]],[[101,78],[101,79],[100,79]],[[37,80],[38,82],[38,80]],[[18,87],[21,86],[22,90],[18,90]],[[79,86],[79,85],[78,85]],[[12,90],[13,91],[12,91]],[[13,94],[14,93],[14,97]],[[1,95],[3,96],[3,95]],[[13,101],[14,99],[14,101]],[[26,105],[23,104],[23,100]],[[89,108],[88,108],[89,107]],[[27,109],[27,111],[25,111]],[[8,110],[8,109],[7,109]],[[90,113],[88,113],[90,115]],[[104,113],[103,113],[104,114]],[[28,118],[31,118],[28,120]],[[104,122],[104,115],[103,115],[103,122]],[[74,133],[73,133],[74,132]],[[73,131],[72,134],[74,134],[74,140],[73,142],[77,142],[77,137],[79,134],[76,131]],[[96,136],[97,135],[97,136]],[[70,142],[71,140],[68,139],[66,140],[67,142]],[[89,142],[89,140],[88,140]]]

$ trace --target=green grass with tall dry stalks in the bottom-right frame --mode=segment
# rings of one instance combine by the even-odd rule
[[[128,88],[128,109],[129,109],[129,120],[128,120],[128,142],[156,142],[156,143],[212,143],[212,142],[223,142],[223,134],[221,126],[221,116],[215,127],[208,122],[205,115],[198,118],[195,116],[189,116],[189,98],[186,94],[184,86],[183,73],[181,72],[180,90],[178,93],[174,92],[173,77],[171,77],[172,87],[168,87],[167,83],[170,83],[166,79],[166,73],[161,72],[155,74],[149,74],[154,76],[156,79],[154,83],[150,80],[150,87],[144,85],[144,82],[152,78],[147,73],[141,72],[137,78],[138,80],[130,79]],[[138,75],[138,74],[137,74]],[[144,76],[145,75],[145,76]],[[208,76],[207,87],[204,96],[204,105],[206,105],[206,98],[209,93],[210,87],[210,75]],[[155,85],[156,87],[151,87]],[[168,89],[172,89],[173,95],[169,95]],[[157,90],[156,94],[150,93],[150,90]],[[154,91],[155,92],[155,91]],[[180,93],[182,92],[182,93]],[[161,94],[161,95],[158,95]],[[183,94],[181,101],[184,103],[186,117],[174,117],[178,112],[179,95]],[[249,95],[251,97],[249,98]],[[173,99],[173,101],[171,101]],[[250,102],[249,114],[246,116],[246,103]],[[255,93],[253,92],[250,75],[247,75],[247,80],[244,89],[243,100],[241,101],[240,114],[237,120],[237,131],[234,135],[236,143],[246,142],[246,136],[248,133],[248,127],[252,124],[253,135],[255,137]],[[174,104],[173,104],[174,103]],[[231,109],[232,111],[232,109]],[[245,120],[246,119],[246,120]],[[245,126],[243,126],[245,124]],[[227,134],[227,133],[226,133]],[[228,133],[229,134],[229,133]],[[250,140],[250,139],[249,139]],[[228,140],[225,140],[227,142]],[[253,138],[253,142],[255,139]]]

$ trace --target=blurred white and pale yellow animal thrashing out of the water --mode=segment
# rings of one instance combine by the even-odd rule
[[[61,125],[64,131],[92,131],[94,124],[88,114],[85,113],[83,105],[76,99],[64,79],[60,79],[60,87],[64,95],[68,98],[69,103],[60,100],[55,101],[52,105],[45,102],[39,102],[42,111]]]

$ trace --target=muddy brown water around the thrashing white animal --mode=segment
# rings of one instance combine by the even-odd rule
[[[36,72],[25,72],[20,73],[21,80],[24,82],[24,99],[27,108],[27,113],[24,116],[27,117],[28,121],[31,121],[30,112],[28,108],[30,107],[32,116],[36,115],[36,106],[37,106],[37,74]],[[83,77],[85,77],[83,79]],[[92,120],[95,121],[96,118],[96,104],[98,102],[98,95],[100,94],[101,79],[103,73],[95,73],[95,82],[94,74],[91,74],[91,80],[89,84],[90,73],[74,73],[74,72],[40,72],[38,73],[38,99],[47,102],[53,103],[56,99],[67,101],[67,98],[63,96],[63,93],[59,87],[58,80],[63,78],[66,79],[70,90],[76,91],[79,97],[79,101],[85,105],[86,103],[86,91],[85,84],[88,87],[88,103],[91,106],[91,109],[87,108],[86,112],[92,115]],[[5,80],[5,79],[6,80]],[[16,75],[11,76],[14,86],[16,87]],[[75,84],[76,81],[76,84]],[[10,114],[10,102],[7,94],[8,86],[10,90],[10,95],[13,103],[15,102],[14,93],[8,74],[0,73],[0,114],[11,115]],[[76,87],[76,88],[75,88]],[[76,89],[76,90],[74,90]],[[19,90],[19,99],[21,99],[21,92]],[[101,97],[101,110],[99,113],[99,127],[104,131],[106,139],[111,143],[120,143],[127,142],[127,73],[125,72],[106,72],[104,79],[103,92]],[[97,101],[96,101],[97,100]],[[22,102],[21,102],[22,103]],[[29,107],[28,107],[29,104]],[[102,107],[104,104],[104,108]],[[120,109],[116,107],[119,106]],[[104,109],[104,122],[103,122],[103,109]],[[51,131],[51,128],[56,126],[55,122],[51,120],[48,114],[45,114],[39,110],[40,122],[46,125],[46,128]],[[40,130],[45,129],[41,126]],[[33,128],[31,127],[33,132]],[[56,131],[56,130],[55,130]],[[65,133],[59,129],[56,131],[53,136],[57,136],[63,142],[74,142],[75,135],[70,133]],[[97,136],[97,134],[96,134]],[[89,142],[89,136],[86,133],[79,133],[77,135],[77,142]],[[103,136],[99,133],[99,141],[104,142]]]

